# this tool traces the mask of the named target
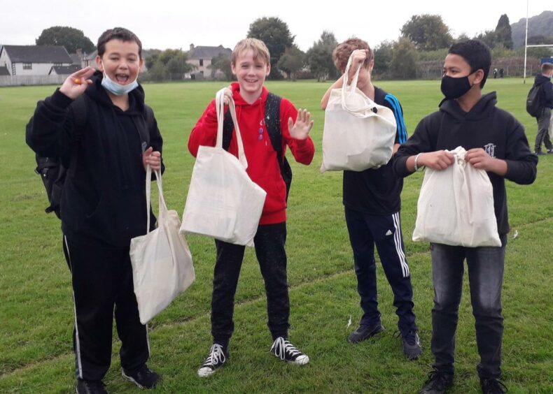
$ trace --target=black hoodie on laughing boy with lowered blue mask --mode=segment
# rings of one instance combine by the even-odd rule
[[[131,238],[146,233],[142,152],[149,146],[161,152],[162,138],[155,119],[155,127],[146,126],[142,87],[130,92],[130,107],[123,111],[102,87],[102,73],[94,73],[92,82],[77,99],[87,107],[82,129],[75,126],[73,100],[57,89],[38,101],[27,144],[41,156],[70,163],[60,203],[64,235],[73,242],[128,247]]]

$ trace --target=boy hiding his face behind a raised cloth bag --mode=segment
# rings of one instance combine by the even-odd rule
[[[374,55],[367,42],[359,38],[349,38],[337,45],[332,52],[336,67],[344,73],[352,54],[349,80],[353,80],[353,75],[360,68],[357,88],[375,103],[390,108],[395,116],[395,152],[399,145],[407,140],[400,102],[392,94],[372,85]],[[323,96],[323,110],[328,105],[332,89],[339,89],[343,85],[344,75],[334,82]],[[384,330],[377,301],[377,271],[374,260],[376,246],[384,273],[393,291],[393,305],[398,315],[403,353],[407,359],[414,360],[421,355],[421,345],[413,313],[411,275],[401,232],[402,186],[402,180],[393,172],[391,161],[379,168],[344,171],[344,211],[353,249],[357,289],[363,309],[359,327],[349,335],[348,341],[358,343]]]

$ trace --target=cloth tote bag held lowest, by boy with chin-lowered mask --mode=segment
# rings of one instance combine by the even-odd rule
[[[163,198],[161,171],[155,171],[159,189],[158,228],[150,231],[150,166],[146,171],[146,235],[132,238],[130,258],[134,294],[137,296],[140,322],[148,323],[188,289],[196,278],[192,255],[186,240],[179,234],[181,221],[174,210],[167,210]]]

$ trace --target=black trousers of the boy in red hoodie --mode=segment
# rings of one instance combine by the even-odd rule
[[[290,301],[288,300],[288,280],[286,278],[286,222],[258,226],[253,238],[255,255],[258,258],[261,274],[265,280],[267,294],[267,326],[273,340],[287,337]],[[215,241],[217,260],[211,298],[211,335],[214,343],[228,346],[235,329],[232,315],[235,309],[235,293],[240,275],[244,246]]]

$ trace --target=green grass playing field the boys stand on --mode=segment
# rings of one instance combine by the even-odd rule
[[[400,99],[412,133],[441,99],[438,81],[381,82]],[[327,84],[269,82],[267,87],[297,107],[309,108],[317,149],[311,166],[293,163],[288,209],[290,340],[311,357],[305,367],[285,365],[269,354],[262,278],[253,250],[246,251],[236,296],[231,358],[223,370],[199,379],[197,367],[211,345],[209,311],[214,242],[188,237],[197,279],[190,289],[150,324],[149,365],[164,376],[159,393],[415,393],[433,358],[430,310],[433,289],[428,245],[410,238],[422,176],[405,180],[402,224],[412,272],[414,304],[423,356],[402,357],[393,337],[396,316],[392,293],[378,265],[379,301],[386,330],[355,346],[346,342],[360,318],[356,278],[342,207],[342,175],[320,175],[323,111],[318,101]],[[169,209],[183,210],[193,157],[188,134],[205,105],[223,83],[146,85],[146,101],[155,110],[165,140],[165,195]],[[526,115],[530,85],[519,79],[489,80],[485,92],[498,92],[498,106],[525,126],[533,145],[535,120]],[[69,270],[63,258],[59,220],[43,212],[46,196],[34,173],[34,154],[25,145],[25,124],[36,101],[55,87],[0,89],[0,392],[69,393],[73,388],[73,305]],[[503,379],[510,393],[553,393],[553,156],[540,157],[538,179],[530,186],[507,183],[510,223],[503,286]],[[517,238],[513,238],[514,231]],[[478,393],[474,319],[468,281],[456,337],[456,378],[452,393]],[[351,316],[353,324],[347,327]],[[114,331],[114,338],[116,338]],[[136,392],[120,377],[118,350],[105,382],[113,393]]]

